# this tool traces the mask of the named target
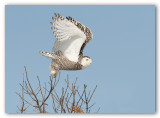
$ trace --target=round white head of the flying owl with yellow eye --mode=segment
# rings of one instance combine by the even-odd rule
[[[81,60],[81,65],[82,65],[82,69],[87,68],[88,66],[90,66],[92,64],[92,59],[84,56]]]

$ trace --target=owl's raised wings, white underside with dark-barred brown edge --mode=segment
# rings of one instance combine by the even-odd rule
[[[56,41],[53,46],[55,54],[61,52],[69,60],[77,62],[83,54],[85,45],[92,39],[90,30],[71,17],[64,18],[60,14],[52,17],[52,29]]]

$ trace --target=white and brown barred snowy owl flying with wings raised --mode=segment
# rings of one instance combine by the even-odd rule
[[[41,55],[52,59],[50,73],[57,76],[60,70],[82,70],[91,65],[92,60],[83,56],[83,50],[92,39],[91,31],[72,17],[63,17],[54,14],[51,22],[56,37],[53,53],[39,52]]]

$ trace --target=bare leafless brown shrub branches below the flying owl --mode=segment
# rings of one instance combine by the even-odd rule
[[[87,85],[84,84],[83,91],[80,93],[79,86],[76,85],[78,79],[70,85],[69,77],[67,76],[67,79],[65,79],[66,87],[62,87],[62,92],[59,95],[55,89],[60,80],[59,74],[58,78],[50,77],[50,81],[48,82],[49,89],[47,89],[46,83],[45,86],[41,86],[40,79],[37,76],[38,87],[33,89],[31,85],[33,83],[30,83],[26,67],[24,68],[26,80],[23,74],[23,82],[20,83],[22,92],[16,93],[22,103],[20,106],[17,106],[20,113],[27,113],[27,109],[29,108],[36,113],[48,113],[46,111],[48,105],[52,105],[53,112],[51,113],[91,113],[91,108],[95,103],[90,105],[90,102],[97,85],[93,91],[87,93]],[[47,104],[49,98],[51,98],[52,102]]]

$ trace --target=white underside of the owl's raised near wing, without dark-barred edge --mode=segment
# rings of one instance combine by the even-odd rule
[[[69,60],[77,62],[86,35],[75,24],[67,19],[55,20],[53,30],[56,37],[53,51],[61,51]]]

